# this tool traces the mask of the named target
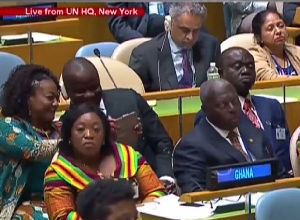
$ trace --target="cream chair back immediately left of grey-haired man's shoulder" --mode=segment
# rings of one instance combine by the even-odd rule
[[[130,56],[134,48],[150,40],[151,38],[136,38],[121,43],[113,52],[111,58],[118,60],[126,65],[129,64]]]

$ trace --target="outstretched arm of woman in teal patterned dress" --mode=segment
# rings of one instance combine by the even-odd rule
[[[19,159],[51,159],[58,140],[40,140],[26,122],[5,117],[0,119],[0,150]]]

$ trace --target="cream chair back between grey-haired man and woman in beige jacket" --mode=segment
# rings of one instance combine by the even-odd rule
[[[221,43],[221,52],[231,47],[242,47],[248,50],[255,45],[254,35],[251,33],[233,35]]]

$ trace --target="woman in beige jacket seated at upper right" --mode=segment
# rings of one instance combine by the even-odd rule
[[[287,43],[287,30],[281,15],[261,11],[252,22],[256,45],[249,51],[255,60],[256,80],[299,75],[300,48]]]

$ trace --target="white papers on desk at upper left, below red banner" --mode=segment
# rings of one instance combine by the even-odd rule
[[[17,40],[28,38],[28,34],[17,34],[17,35],[5,35],[1,36],[1,40]],[[49,42],[54,40],[59,40],[60,36],[52,35],[52,34],[45,34],[39,32],[32,32],[32,38],[34,42]]]

